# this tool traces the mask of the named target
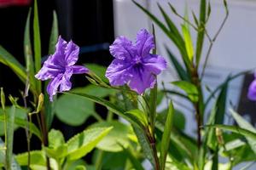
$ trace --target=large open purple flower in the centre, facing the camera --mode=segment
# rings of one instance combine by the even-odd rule
[[[106,77],[112,86],[128,86],[138,94],[146,88],[154,88],[155,75],[166,69],[166,60],[149,54],[154,48],[154,37],[145,29],[137,32],[137,41],[132,44],[126,37],[118,37],[109,47],[115,59],[108,66]]]

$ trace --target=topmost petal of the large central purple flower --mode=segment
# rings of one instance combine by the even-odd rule
[[[147,30],[142,29],[137,33],[136,41],[137,54],[145,57],[149,54],[150,50],[154,48],[154,37],[149,34]]]

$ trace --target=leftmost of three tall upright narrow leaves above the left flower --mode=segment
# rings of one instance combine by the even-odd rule
[[[26,18],[26,27],[24,32],[24,56],[26,60],[26,74],[29,78],[29,84],[36,84],[36,79],[34,77],[35,70],[34,70],[34,62],[32,58],[32,46],[30,41],[30,16],[31,16],[31,8],[27,14]],[[35,94],[36,95],[36,94]]]

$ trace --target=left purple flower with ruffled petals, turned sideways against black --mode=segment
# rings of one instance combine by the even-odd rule
[[[55,54],[49,55],[43,67],[35,76],[39,80],[51,79],[47,86],[50,101],[58,92],[68,91],[72,87],[70,77],[73,74],[83,74],[89,70],[84,66],[74,65],[79,59],[79,46],[72,41],[66,42],[61,38],[55,46]]]

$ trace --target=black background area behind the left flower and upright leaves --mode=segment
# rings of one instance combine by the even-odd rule
[[[33,2],[23,6],[9,6],[0,8],[0,45],[13,54],[22,65],[24,63],[23,37],[28,10]],[[113,3],[112,0],[38,0],[38,14],[41,33],[42,56],[47,55],[49,35],[52,25],[53,10],[56,10],[61,37],[77,43],[79,47],[87,47],[101,43],[113,42]],[[82,63],[96,63],[108,65],[111,56],[108,49],[91,51],[80,54],[79,65]],[[83,86],[87,83],[84,77],[73,77],[73,86]],[[5,94],[20,97],[20,90],[24,85],[9,67],[0,64],[0,87]],[[100,108],[101,109],[101,108]],[[94,120],[89,120],[94,121]],[[74,133],[84,130],[81,127],[69,127],[56,118],[53,127],[65,132],[68,139]],[[41,143],[33,139],[32,150],[38,149]],[[26,133],[24,129],[15,132],[14,152],[26,151]]]

